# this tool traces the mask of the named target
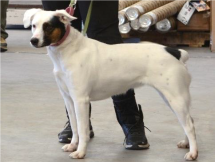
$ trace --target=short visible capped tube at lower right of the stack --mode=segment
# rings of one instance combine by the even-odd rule
[[[169,17],[156,23],[155,28],[161,33],[166,33],[176,28],[176,18]]]

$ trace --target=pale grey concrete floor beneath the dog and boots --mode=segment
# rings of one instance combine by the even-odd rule
[[[46,49],[29,45],[29,30],[8,30],[9,50],[0,53],[0,162],[183,162],[184,133],[176,117],[150,87],[136,90],[142,105],[150,149],[128,151],[111,99],[92,103],[95,137],[86,158],[61,151],[57,134],[66,122],[64,103],[52,75]],[[199,146],[198,162],[215,161],[215,54],[208,48],[185,48],[192,74],[191,114]],[[105,120],[104,120],[105,119]]]

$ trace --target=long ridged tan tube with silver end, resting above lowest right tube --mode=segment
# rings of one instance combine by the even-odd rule
[[[150,11],[139,17],[140,26],[147,28],[151,25],[156,24],[158,21],[161,21],[167,17],[170,17],[176,14],[187,0],[175,0],[171,3],[168,3],[162,7],[159,7],[153,11]]]

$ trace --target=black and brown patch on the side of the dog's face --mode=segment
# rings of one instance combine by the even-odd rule
[[[57,16],[54,16],[49,22],[43,24],[43,31],[44,37],[42,46],[57,43],[66,33],[65,24],[62,23]]]

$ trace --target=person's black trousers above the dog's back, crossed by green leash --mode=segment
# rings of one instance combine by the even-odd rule
[[[79,9],[84,22],[89,4],[90,0],[79,0]],[[87,36],[107,44],[123,43],[118,30],[117,0],[93,1]]]

